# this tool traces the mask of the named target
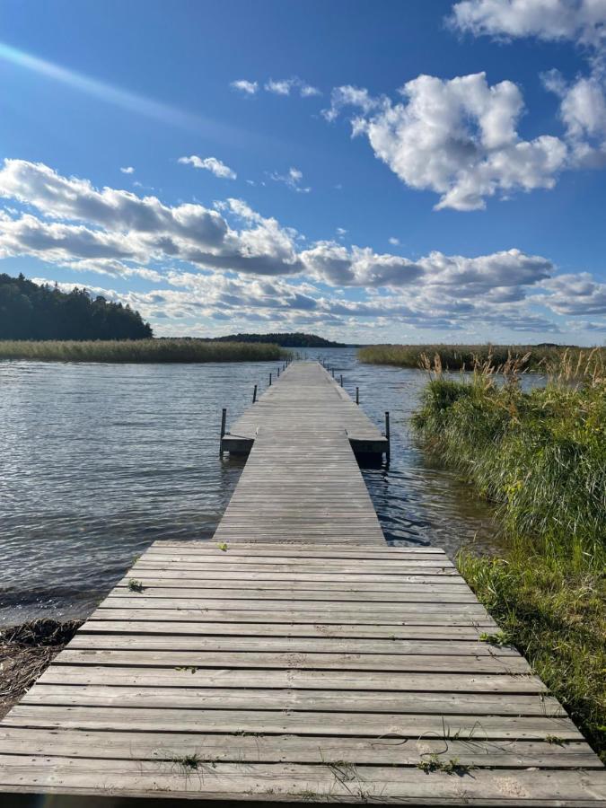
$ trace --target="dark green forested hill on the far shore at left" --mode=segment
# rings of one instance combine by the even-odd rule
[[[61,292],[20,275],[0,275],[0,339],[145,339],[149,323],[129,305]]]

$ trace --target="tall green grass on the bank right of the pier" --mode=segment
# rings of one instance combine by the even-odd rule
[[[528,392],[522,367],[489,357],[455,380],[436,357],[413,428],[496,504],[502,557],[457,558],[501,628],[486,641],[516,646],[606,761],[604,363],[565,353]]]

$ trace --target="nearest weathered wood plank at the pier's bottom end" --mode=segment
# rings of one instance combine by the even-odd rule
[[[214,761],[213,761],[214,762]],[[166,795],[206,800],[242,798],[272,801],[299,800],[407,802],[452,805],[574,806],[603,804],[606,772],[502,769],[479,770],[473,777],[452,777],[418,768],[356,767],[352,779],[327,765],[285,763],[208,763],[193,774],[171,761],[54,758],[35,755],[3,756],[15,790],[38,789],[49,793],[98,794],[111,788],[115,795]],[[362,795],[362,796],[361,796]]]

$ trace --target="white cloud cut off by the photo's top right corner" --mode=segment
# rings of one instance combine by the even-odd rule
[[[475,36],[538,37],[596,46],[606,39],[604,0],[464,0],[452,25]]]

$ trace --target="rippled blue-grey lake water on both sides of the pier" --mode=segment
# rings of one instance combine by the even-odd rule
[[[487,505],[409,433],[426,373],[301,353],[391,413],[390,468],[364,470],[388,540],[494,544]],[[278,364],[0,362],[0,624],[86,616],[152,541],[210,539],[243,465],[219,458],[221,409],[229,426]]]

